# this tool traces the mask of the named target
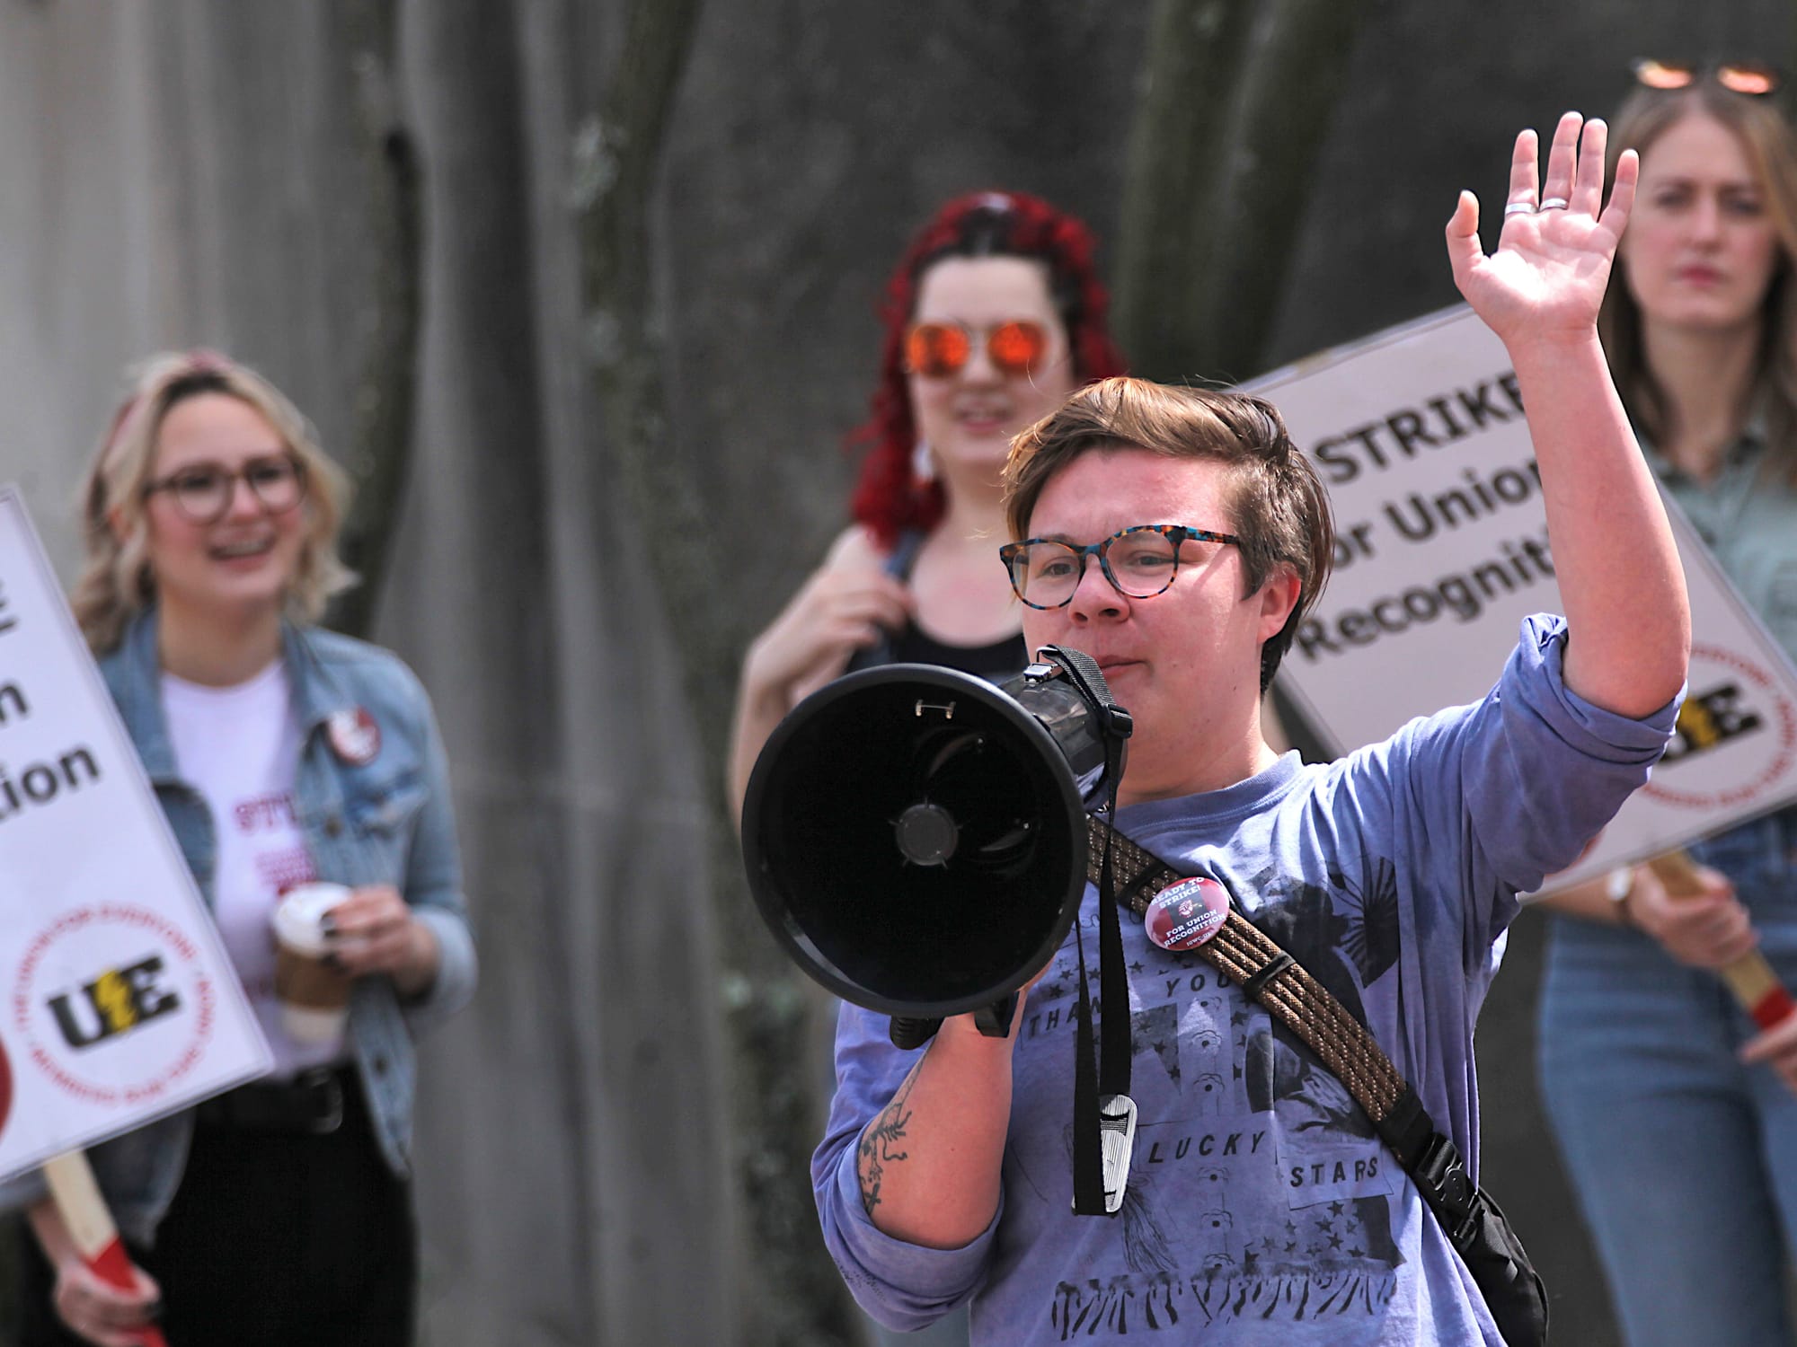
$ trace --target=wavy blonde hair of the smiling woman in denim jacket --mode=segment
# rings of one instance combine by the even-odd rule
[[[325,600],[356,582],[336,551],[349,480],[325,458],[293,402],[255,370],[217,352],[151,356],[133,370],[131,392],[113,415],[81,487],[88,555],[70,607],[95,654],[117,647],[129,620],[156,594],[146,557],[144,489],[156,469],[156,438],[169,409],[201,393],[223,393],[255,408],[305,471],[305,530],[298,571],[288,589],[288,618],[318,621]]]

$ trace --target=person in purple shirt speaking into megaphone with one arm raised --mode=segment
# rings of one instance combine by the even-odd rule
[[[1472,194],[1447,230],[1515,361],[1567,609],[1524,623],[1472,706],[1328,765],[1267,745],[1261,691],[1333,533],[1270,404],[1107,379],[1017,436],[1003,560],[1030,650],[1084,652],[1134,724],[1120,837],[1094,844],[1100,882],[1008,1024],[949,1015],[900,1049],[884,1015],[843,1015],[812,1175],[830,1254],[882,1322],[970,1302],[976,1343],[1540,1340],[1538,1281],[1506,1302],[1484,1257],[1508,1230],[1472,1184],[1474,1022],[1517,894],[1660,756],[1689,648],[1598,343],[1635,185],[1623,156],[1605,205],[1603,151],[1603,124],[1569,113],[1542,176],[1522,133],[1497,251]],[[1186,878],[1138,914],[1145,853]],[[837,884],[854,905],[854,873]],[[1244,930],[1276,952],[1238,977],[1204,941]],[[1373,1115],[1366,1081],[1292,1027],[1292,988],[1371,1031],[1402,1106]],[[1470,1218],[1448,1230],[1445,1211]]]

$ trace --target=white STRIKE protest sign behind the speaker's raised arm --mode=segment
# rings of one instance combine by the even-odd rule
[[[1335,508],[1335,571],[1279,668],[1341,753],[1483,697],[1531,612],[1560,612],[1540,472],[1497,336],[1454,307],[1249,384]],[[1682,846],[1797,797],[1797,672],[1669,506],[1691,591],[1678,733],[1554,884]]]

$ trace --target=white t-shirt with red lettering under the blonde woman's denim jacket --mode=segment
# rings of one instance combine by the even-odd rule
[[[275,1002],[275,903],[288,889],[318,878],[295,815],[300,727],[286,666],[277,659],[235,688],[205,688],[164,674],[162,708],[176,769],[212,812],[212,916],[275,1052],[275,1074],[341,1060],[341,1042],[289,1038]]]

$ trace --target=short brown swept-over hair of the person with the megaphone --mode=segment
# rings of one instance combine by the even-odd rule
[[[1247,593],[1276,569],[1297,575],[1297,605],[1260,652],[1260,688],[1272,684],[1297,625],[1315,605],[1335,557],[1330,497],[1310,460],[1285,433],[1278,408],[1249,393],[1177,388],[1146,379],[1103,379],[1078,390],[1012,440],[1005,514],[1022,539],[1042,489],[1091,449],[1146,449],[1163,458],[1208,458],[1229,467],[1227,530],[1240,539]],[[1208,519],[1143,519],[1199,523]]]

